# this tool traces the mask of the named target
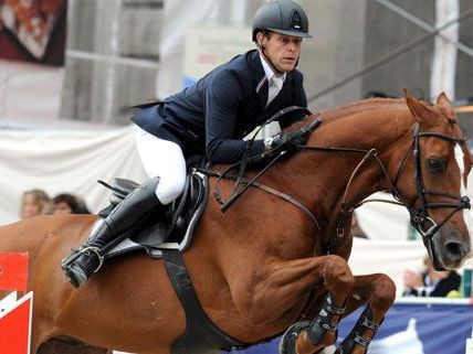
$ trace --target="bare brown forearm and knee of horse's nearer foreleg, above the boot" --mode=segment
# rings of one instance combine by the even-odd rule
[[[338,256],[274,261],[251,277],[232,289],[235,305],[248,325],[291,324],[281,321],[294,321],[317,285],[329,286],[336,304],[341,305],[355,283],[347,262]]]

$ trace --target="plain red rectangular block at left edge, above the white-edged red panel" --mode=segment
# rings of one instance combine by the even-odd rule
[[[27,289],[28,254],[0,254],[0,290],[27,292]]]

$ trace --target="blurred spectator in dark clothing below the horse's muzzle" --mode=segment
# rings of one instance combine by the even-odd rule
[[[450,291],[459,290],[460,275],[454,270],[437,271],[428,256],[423,259],[425,271],[404,272],[404,297],[446,297]]]

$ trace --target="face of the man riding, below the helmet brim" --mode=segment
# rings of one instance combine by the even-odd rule
[[[302,37],[272,32],[269,37],[259,33],[264,54],[281,73],[291,72],[301,54]]]

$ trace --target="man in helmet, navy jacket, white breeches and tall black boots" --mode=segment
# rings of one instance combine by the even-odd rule
[[[99,219],[82,248],[63,260],[62,268],[72,285],[80,287],[98,270],[105,245],[181,194],[185,158],[206,154],[211,163],[234,163],[246,150],[249,157],[261,155],[282,146],[306,142],[303,132],[252,144],[242,140],[281,109],[307,107],[303,75],[295,68],[302,39],[311,37],[304,10],[291,0],[269,1],[256,11],[252,28],[257,50],[217,67],[164,103],[144,105],[132,118],[138,126],[138,152],[151,179]],[[292,111],[280,119],[280,125],[288,127],[304,115]]]

